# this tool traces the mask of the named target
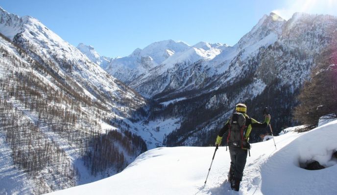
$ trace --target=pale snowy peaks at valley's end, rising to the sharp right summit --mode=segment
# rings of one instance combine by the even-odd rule
[[[261,46],[275,43],[285,22],[276,14],[265,15],[234,46],[205,42],[190,46],[172,40],[152,43],[143,50],[137,48],[127,57],[113,60],[106,70],[145,97],[170,90],[200,88],[204,85],[202,79],[224,73],[239,54],[245,58],[254,55]],[[196,63],[200,63],[201,70],[191,70]],[[185,80],[175,78],[182,72]],[[191,77],[200,75],[199,81],[191,81]]]

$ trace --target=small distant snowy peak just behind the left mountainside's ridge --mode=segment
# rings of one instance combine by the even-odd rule
[[[77,49],[79,49],[84,55],[86,55],[93,63],[96,63],[103,69],[105,69],[112,60],[109,57],[100,56],[95,48],[91,45],[79,43],[77,45]]]

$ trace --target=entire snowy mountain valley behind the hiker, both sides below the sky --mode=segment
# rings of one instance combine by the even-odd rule
[[[213,145],[239,102],[274,133],[337,39],[337,17],[263,16],[234,46],[172,40],[112,59],[0,8],[0,194],[44,194],[120,173],[162,146]],[[251,141],[258,142],[255,130]]]

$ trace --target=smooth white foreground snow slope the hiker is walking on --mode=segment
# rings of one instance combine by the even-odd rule
[[[336,128],[334,121],[305,133],[290,131],[275,137],[277,150],[272,140],[253,144],[238,193],[224,182],[230,166],[225,147],[219,147],[205,187],[215,147],[177,147],[145,152],[119,174],[51,195],[333,195]],[[301,168],[313,160],[327,168]]]

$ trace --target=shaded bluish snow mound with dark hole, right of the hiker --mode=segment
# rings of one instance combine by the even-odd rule
[[[337,163],[332,160],[332,153],[337,150],[336,128],[337,121],[334,121],[306,133],[298,133],[297,139],[267,157],[261,165],[262,194],[337,194],[335,182],[332,182],[337,174],[337,166],[333,166]],[[330,167],[316,171],[300,168],[301,163],[313,160]]]

